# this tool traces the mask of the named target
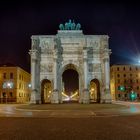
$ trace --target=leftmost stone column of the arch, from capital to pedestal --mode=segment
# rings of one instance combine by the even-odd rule
[[[37,74],[37,61],[38,54],[37,50],[30,50],[29,54],[31,55],[31,104],[40,104],[40,94],[37,89],[38,83],[38,74]]]

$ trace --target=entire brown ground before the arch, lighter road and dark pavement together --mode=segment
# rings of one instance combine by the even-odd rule
[[[117,103],[0,105],[0,140],[140,140],[140,105]]]

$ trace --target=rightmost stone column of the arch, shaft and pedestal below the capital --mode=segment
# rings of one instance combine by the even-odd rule
[[[105,102],[111,103],[111,95],[110,95],[110,65],[109,58],[104,59],[104,74],[105,74]]]

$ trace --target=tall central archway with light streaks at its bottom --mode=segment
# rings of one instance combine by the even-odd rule
[[[62,101],[79,101],[79,74],[72,64],[67,65],[62,73]]]

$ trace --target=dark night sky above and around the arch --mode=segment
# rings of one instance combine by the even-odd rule
[[[30,71],[31,35],[56,34],[60,23],[74,19],[84,34],[110,36],[111,64],[140,58],[140,5],[97,2],[0,1],[0,64]]]

